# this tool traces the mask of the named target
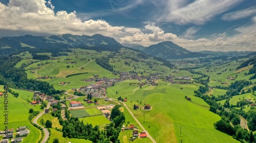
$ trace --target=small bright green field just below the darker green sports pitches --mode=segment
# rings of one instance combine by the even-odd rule
[[[80,121],[83,121],[85,124],[92,124],[93,126],[99,125],[104,126],[106,124],[110,124],[110,121],[106,119],[104,116],[92,116],[86,118],[79,118]]]

